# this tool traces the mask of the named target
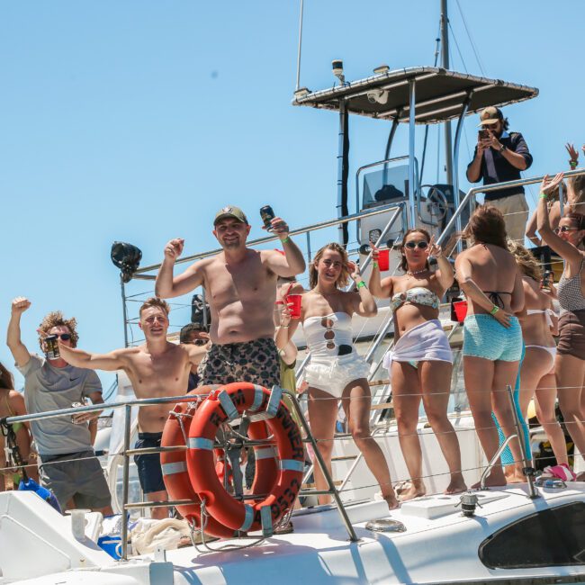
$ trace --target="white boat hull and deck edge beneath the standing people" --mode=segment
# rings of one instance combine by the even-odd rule
[[[357,543],[349,543],[337,509],[303,510],[294,533],[240,550],[201,554],[192,546],[164,559],[135,557],[116,563],[89,539],[71,535],[68,518],[34,494],[0,494],[0,583],[102,583],[103,585],[202,585],[243,583],[545,583],[585,582],[585,565],[491,569],[480,560],[482,542],[502,527],[539,511],[574,502],[585,505],[585,484],[539,490],[526,486],[478,492],[482,508],[464,518],[458,497],[433,496],[392,512],[400,533],[374,533],[365,522],[388,516],[384,502],[348,506]],[[24,527],[26,526],[26,528]],[[529,543],[532,536],[526,535]],[[232,541],[233,544],[241,544]],[[515,541],[518,547],[522,543]],[[211,546],[229,544],[212,543]],[[154,555],[152,555],[154,556]],[[582,562],[582,561],[581,561]]]

